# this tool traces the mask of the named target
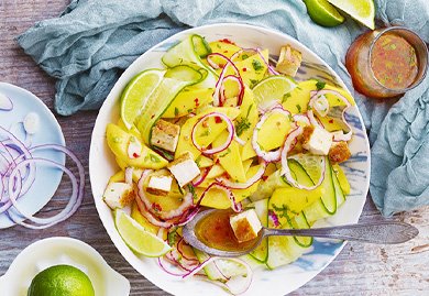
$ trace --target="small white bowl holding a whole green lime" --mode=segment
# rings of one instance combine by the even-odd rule
[[[130,282],[111,268],[89,244],[72,238],[48,238],[30,244],[0,277],[1,295],[26,296],[31,281],[53,265],[67,264],[85,272],[96,296],[130,295]]]

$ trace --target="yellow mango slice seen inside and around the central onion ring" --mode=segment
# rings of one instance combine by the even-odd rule
[[[205,111],[201,113],[198,113],[197,116],[189,118],[180,128],[180,134],[179,134],[179,140],[177,143],[177,149],[175,153],[175,157],[178,157],[179,155],[184,154],[185,152],[190,152],[194,156],[194,160],[196,160],[201,152],[196,149],[196,146],[193,144],[193,140],[190,139],[190,134],[193,132],[194,125],[197,123],[197,121],[211,112],[220,112],[229,117],[231,120],[234,120],[239,114],[240,110],[237,108],[228,108],[228,107],[222,107],[222,108],[215,108],[210,107],[207,108]],[[200,128],[197,130],[197,141],[198,144],[207,146],[211,144],[211,142],[218,138],[218,135],[226,130],[227,123],[223,121],[221,122],[216,122],[215,118],[208,118],[207,120],[207,128],[204,127],[204,124],[198,124]],[[199,136],[199,135],[204,136]],[[206,135],[207,134],[207,135]]]

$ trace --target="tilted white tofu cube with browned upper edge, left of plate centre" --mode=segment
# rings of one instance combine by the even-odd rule
[[[185,152],[177,160],[172,162],[167,168],[177,179],[177,183],[180,187],[184,187],[186,184],[195,179],[199,174],[199,167],[193,158],[190,152]]]

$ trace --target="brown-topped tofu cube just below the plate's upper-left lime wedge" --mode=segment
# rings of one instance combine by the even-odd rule
[[[175,152],[180,127],[160,119],[152,129],[151,144],[169,152]]]

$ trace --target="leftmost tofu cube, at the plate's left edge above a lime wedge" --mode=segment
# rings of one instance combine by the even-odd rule
[[[134,200],[134,190],[128,183],[113,182],[109,183],[102,198],[111,209],[122,209]]]

